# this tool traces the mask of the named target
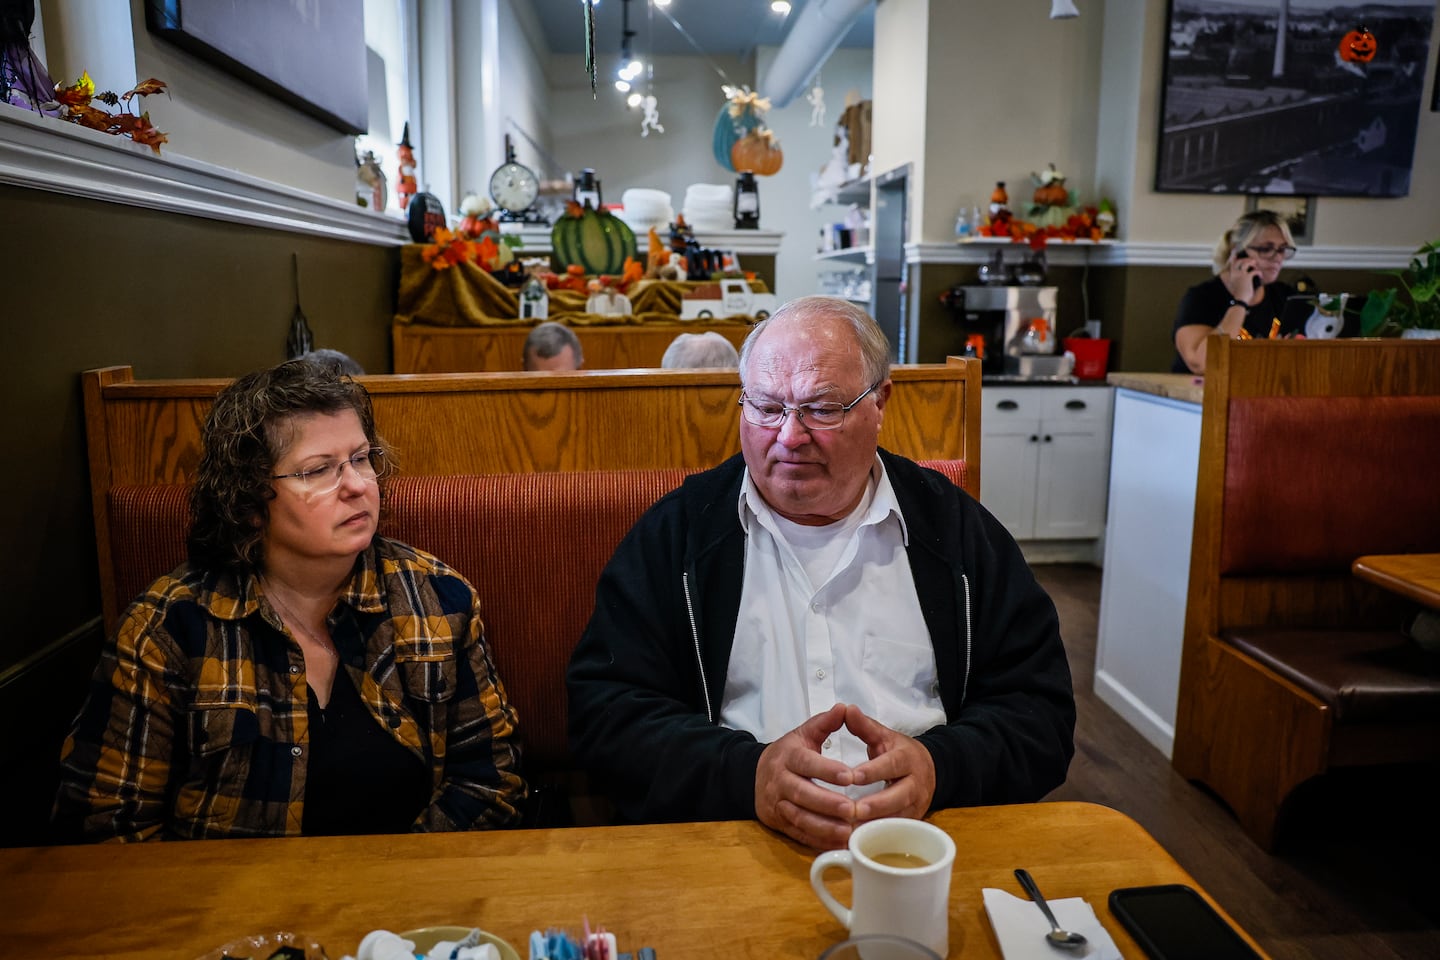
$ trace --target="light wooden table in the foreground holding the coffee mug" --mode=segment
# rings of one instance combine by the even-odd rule
[[[999,957],[982,887],[1084,897],[1126,957],[1116,887],[1197,887],[1135,820],[1090,803],[943,810],[956,841],[950,956]],[[194,841],[0,851],[0,943],[12,957],[187,960],[295,930],[338,960],[374,928],[474,924],[527,953],[533,928],[579,931],[660,960],[814,960],[845,931],[809,888],[815,853],[755,822],[495,833]],[[841,894],[848,898],[848,891]]]

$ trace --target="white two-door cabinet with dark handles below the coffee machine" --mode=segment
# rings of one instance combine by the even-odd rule
[[[981,502],[1015,540],[1104,531],[1110,387],[981,389]]]

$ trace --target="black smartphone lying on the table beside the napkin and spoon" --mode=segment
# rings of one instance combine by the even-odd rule
[[[1151,960],[1260,960],[1236,928],[1184,884],[1116,889],[1110,913]]]

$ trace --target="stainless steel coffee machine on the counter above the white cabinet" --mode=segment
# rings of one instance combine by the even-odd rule
[[[965,351],[981,357],[986,377],[1053,377],[1056,286],[956,286],[949,298],[965,332]],[[1051,368],[1053,367],[1053,368]]]

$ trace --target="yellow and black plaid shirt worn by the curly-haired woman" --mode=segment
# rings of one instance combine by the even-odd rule
[[[330,630],[376,723],[431,770],[415,830],[520,819],[516,711],[480,599],[435,557],[376,537]],[[253,576],[181,566],[125,612],[60,756],[62,838],[301,832],[305,661]],[[363,802],[363,797],[356,797]]]

